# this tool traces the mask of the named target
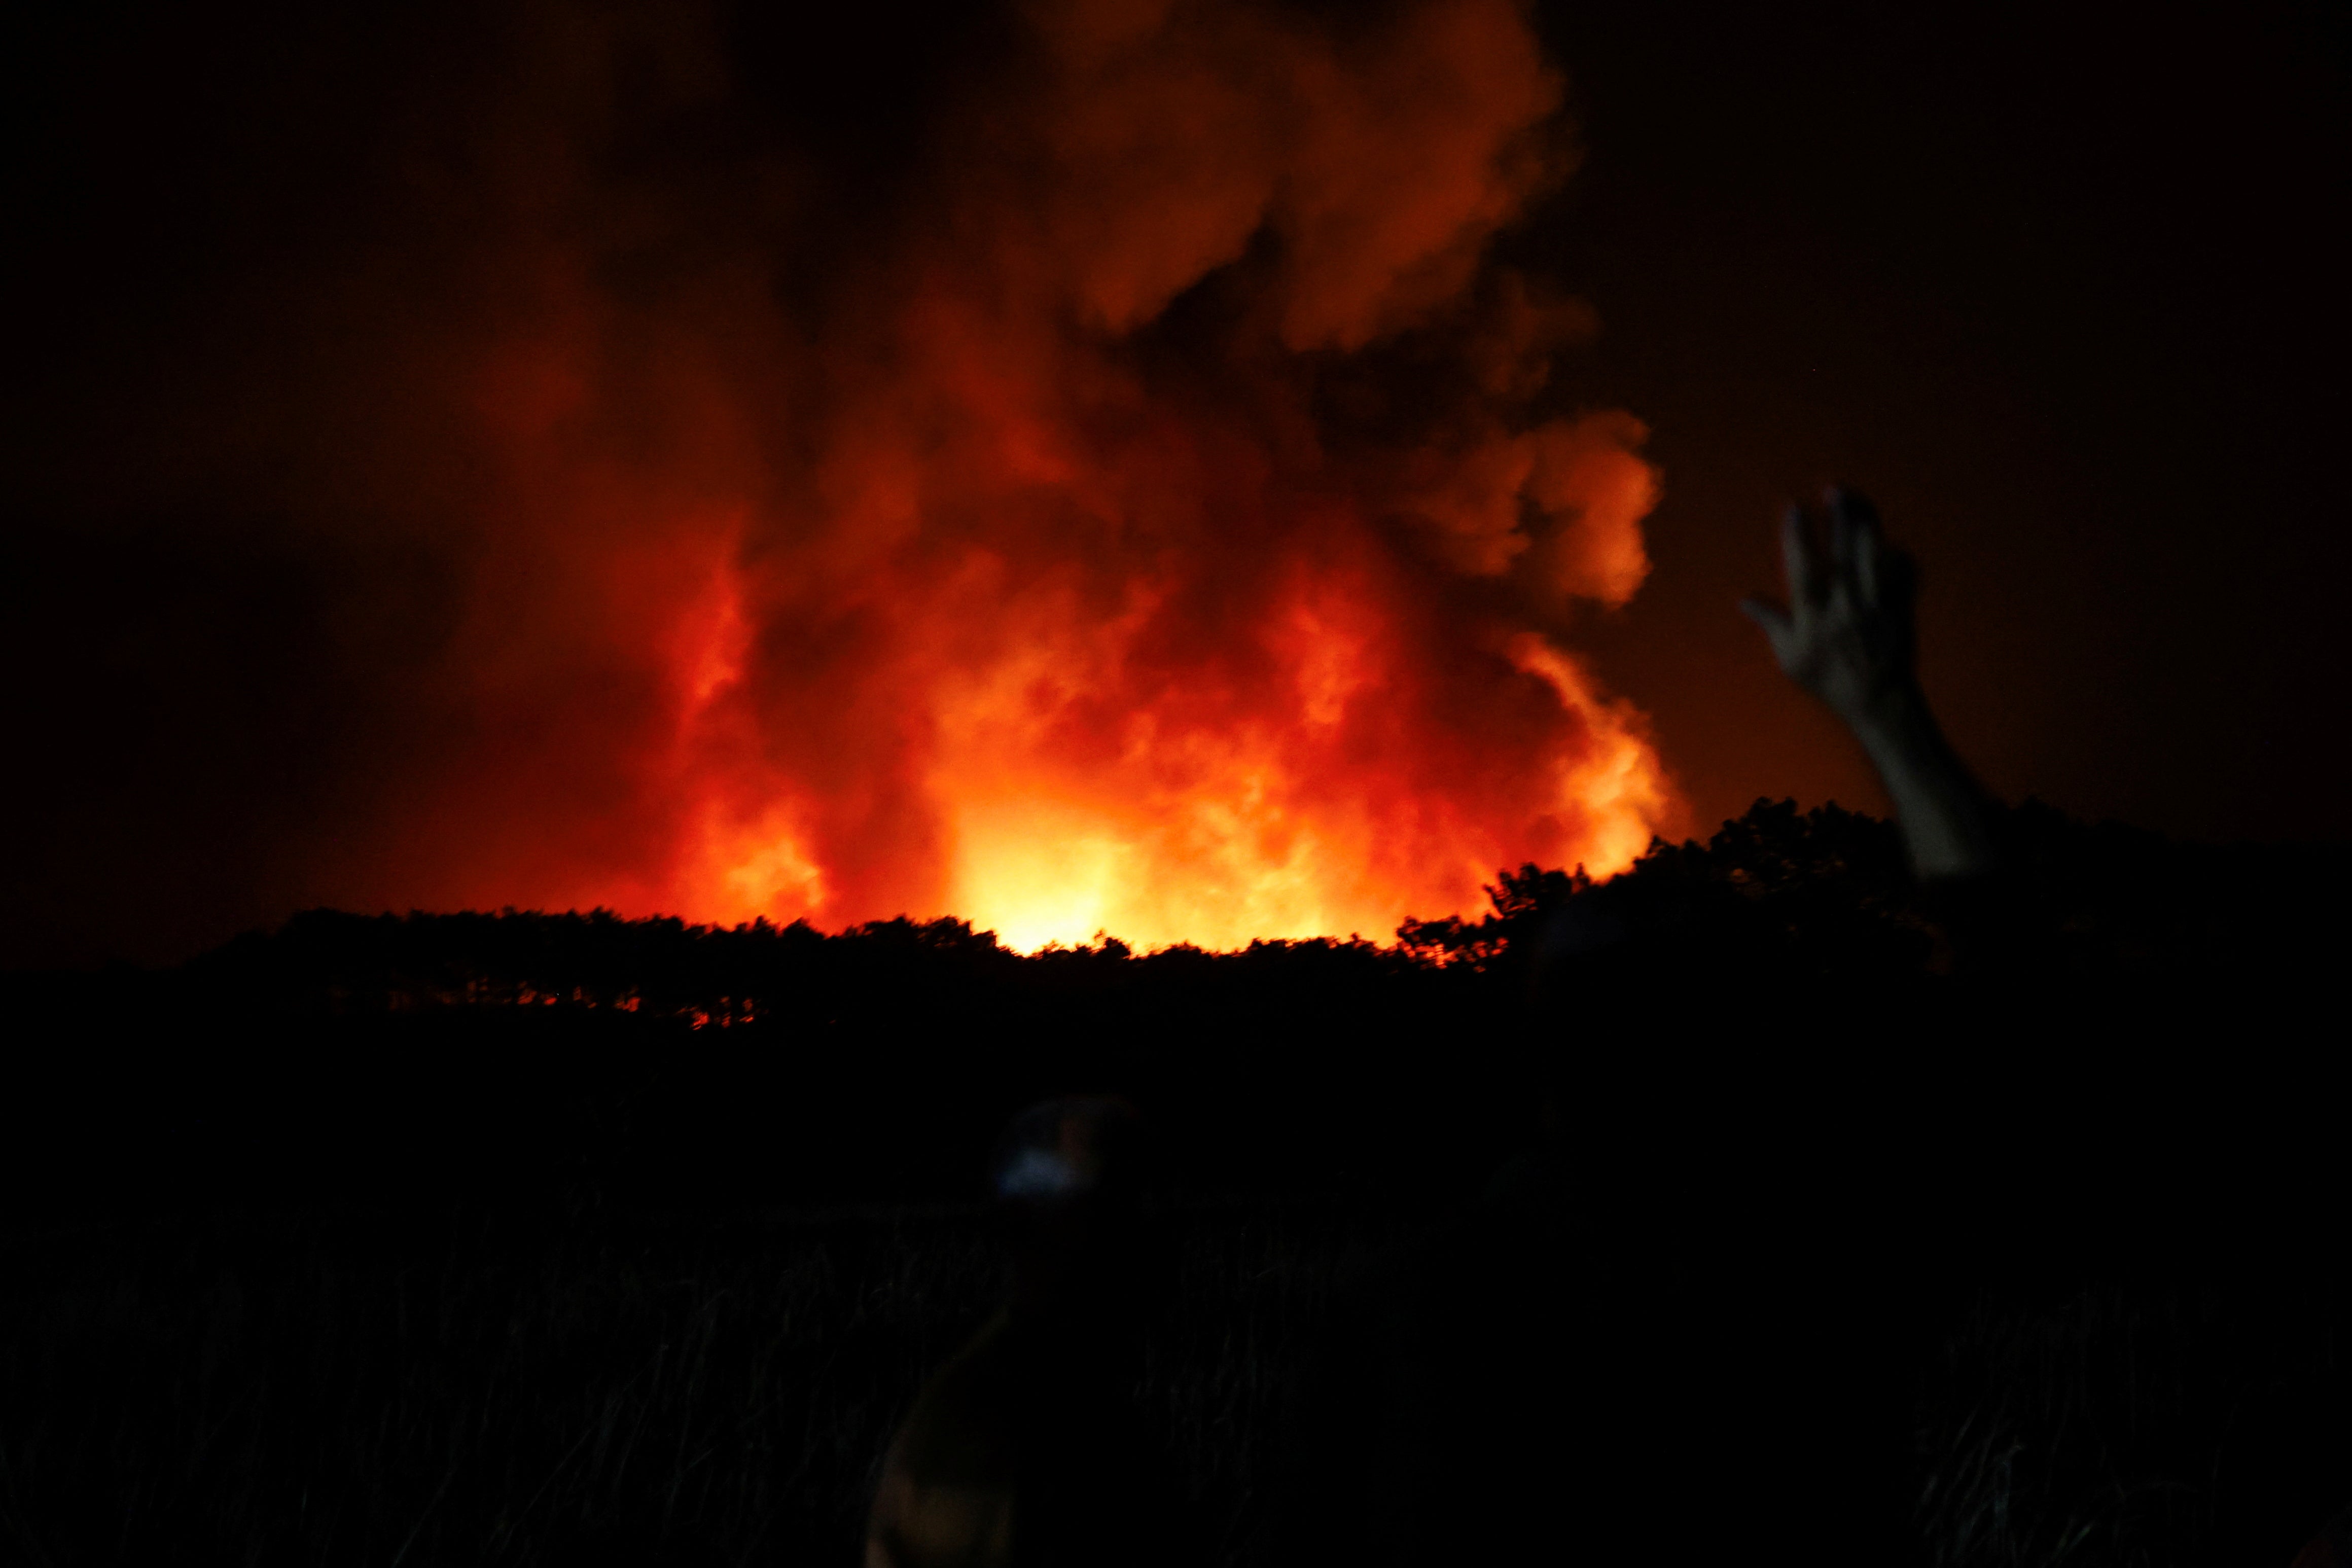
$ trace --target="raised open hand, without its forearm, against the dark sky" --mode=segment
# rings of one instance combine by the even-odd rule
[[[1820,524],[1790,503],[1780,520],[1788,604],[1750,595],[1740,611],[1764,628],[1780,670],[1830,705],[1849,726],[1893,717],[1915,686],[1917,569],[1886,543],[1879,512],[1863,496],[1830,487]]]

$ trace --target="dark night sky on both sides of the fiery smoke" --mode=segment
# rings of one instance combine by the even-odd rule
[[[1578,639],[1656,719],[1700,827],[1757,795],[1877,804],[1733,614],[1773,581],[1776,508],[1835,477],[1924,559],[1924,675],[1999,792],[2345,837],[2343,9],[1541,9],[1585,158],[1505,247],[1592,301],[1569,390],[1644,418],[1665,475],[1656,574]],[[430,353],[397,310],[325,320],[301,280],[414,254],[379,200],[400,172],[369,160],[430,108],[419,82],[459,120],[487,101],[485,24],[12,28],[35,31],[7,45],[0,957],[172,957],[332,891],[339,823],[381,804],[367,759],[440,743],[400,696],[452,614],[430,529],[301,536],[245,475],[306,461],[273,444],[308,414],[282,371],[306,334]],[[830,169],[835,242],[997,47],[957,7],[781,7],[731,38],[783,61],[764,134]],[[739,134],[656,153],[717,167]],[[339,299],[400,299],[369,289]],[[278,369],[214,400],[245,360]]]

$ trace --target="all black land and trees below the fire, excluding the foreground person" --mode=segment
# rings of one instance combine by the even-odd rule
[[[1112,1088],[1214,1561],[1468,1516],[1541,1420],[1559,1561],[2284,1568],[2352,1502],[2352,865],[2013,856],[1938,905],[1759,804],[1392,947],[318,912],[14,976],[0,1561],[849,1563],[993,1133]]]

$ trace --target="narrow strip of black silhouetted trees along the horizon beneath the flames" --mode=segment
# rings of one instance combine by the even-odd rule
[[[1595,882],[1522,865],[1486,889],[1479,919],[1406,919],[1397,943],[1261,940],[1242,952],[1136,954],[1115,936],[1023,957],[962,919],[868,922],[828,936],[804,922],[694,926],[675,917],[346,914],[310,910],[193,959],[186,994],[287,1013],[397,1013],[454,1006],[586,1006],[731,1027],[828,1020],[894,990],[1089,992],[1122,971],[1202,983],[1209,973],[1378,983],[1468,969],[1531,980],[1656,961],[1708,973],[1910,978],[1955,969],[1955,924],[2034,976],[2277,973],[2345,924],[2343,849],[2171,844],[2114,823],[2084,825],[2039,802],[2011,813],[2013,870],[1994,889],[1922,889],[1891,823],[1835,804],[1759,799],[1708,839],[1651,849]],[[1959,898],[1978,907],[1955,907]],[[1959,933],[1966,940],[1971,933]],[[1310,980],[1312,978],[1312,980]]]

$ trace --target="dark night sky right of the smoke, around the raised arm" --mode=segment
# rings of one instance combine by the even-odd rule
[[[1597,632],[1700,816],[1877,802],[1726,602],[1842,477],[1926,569],[1924,675],[2009,797],[2343,839],[2340,7],[1550,7],[1557,219],[1658,574]]]

